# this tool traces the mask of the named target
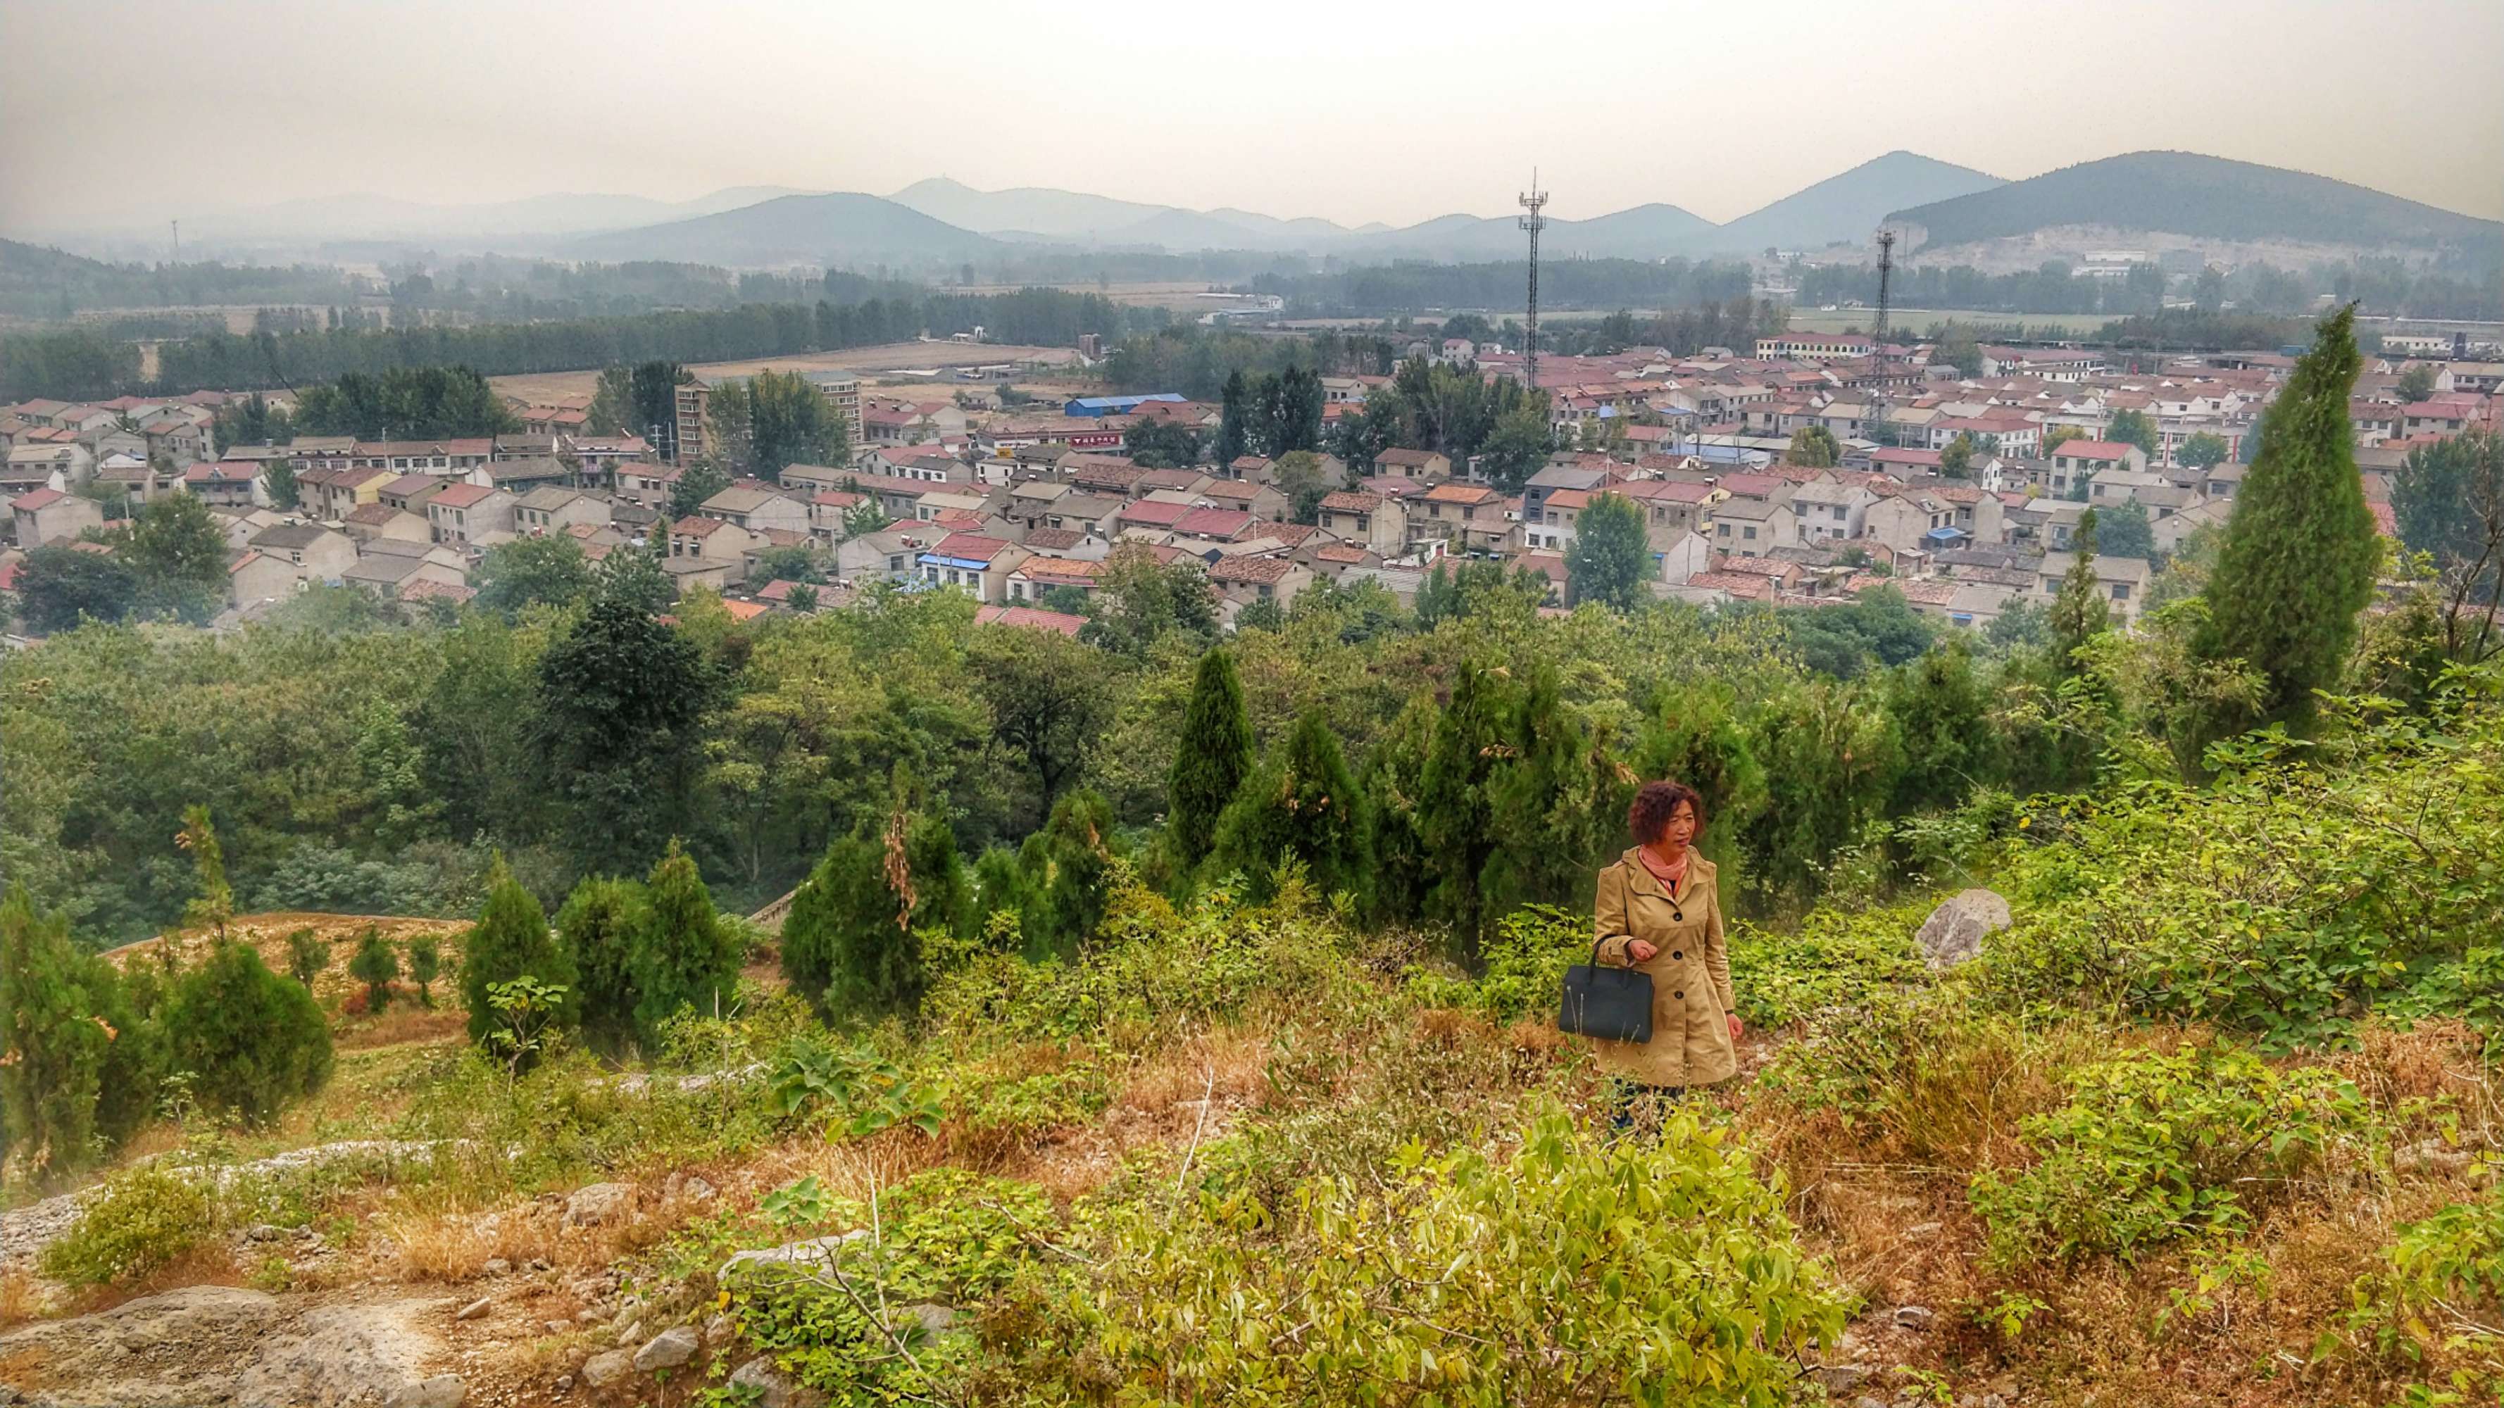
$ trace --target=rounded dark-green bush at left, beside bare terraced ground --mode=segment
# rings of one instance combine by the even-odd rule
[[[313,992],[250,945],[223,942],[175,980],[163,1030],[170,1070],[190,1072],[200,1105],[248,1125],[331,1080],[331,1022]]]

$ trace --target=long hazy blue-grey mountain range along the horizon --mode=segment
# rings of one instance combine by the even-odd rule
[[[1918,230],[1906,253],[1956,248],[1958,258],[2021,263],[2078,243],[2284,243],[2349,248],[2504,251],[2504,225],[2364,185],[2194,153],[2131,153],[2003,183],[1908,150],[1870,158],[1728,225],[1653,203],[1588,220],[1547,220],[1555,258],[1708,258],[1765,248],[1868,246],[1881,223]],[[456,248],[583,261],[689,261],[716,266],[886,266],[896,273],[1019,251],[1249,251],[1357,263],[1397,258],[1480,263],[1520,258],[1515,213],[1437,215],[1405,228],[1340,225],[1255,210],[1187,210],[1084,190],[974,190],[929,178],[889,198],[731,188],[696,200],[641,195],[536,195],[488,205],[421,205],[381,195],[290,200],[263,210],[183,220],[185,246],[245,241],[438,241]],[[2043,241],[2046,230],[2061,230]],[[2163,238],[2131,238],[2163,233]],[[2066,241],[2066,243],[2063,243]]]

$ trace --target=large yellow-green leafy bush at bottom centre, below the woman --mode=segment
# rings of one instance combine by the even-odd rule
[[[1783,1403],[1845,1295],[1778,1188],[1693,1115],[1658,1145],[1535,1120],[1507,1160],[1410,1155],[1395,1185],[1315,1180],[1290,1225],[1234,1195],[1092,1218],[1094,1268],[1027,1373],[1184,1403]]]

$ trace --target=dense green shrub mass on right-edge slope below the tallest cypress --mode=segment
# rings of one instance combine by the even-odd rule
[[[2469,955],[2504,912],[2504,714],[2449,724],[2359,724],[2311,754],[2254,734],[2214,787],[2081,804],[2063,844],[2001,877],[2018,922],[1993,940],[1993,990],[2289,1050],[2481,987]]]

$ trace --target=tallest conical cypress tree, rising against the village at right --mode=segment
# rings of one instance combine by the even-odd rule
[[[2269,681],[2261,719],[2311,717],[2314,689],[2339,679],[2356,614],[2374,596],[2381,541],[2356,479],[2356,308],[2321,323],[2269,406],[2251,474],[2209,574],[2206,659],[2241,659]],[[2244,719],[2221,719],[2216,732]]]

